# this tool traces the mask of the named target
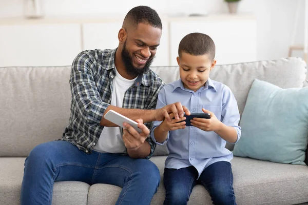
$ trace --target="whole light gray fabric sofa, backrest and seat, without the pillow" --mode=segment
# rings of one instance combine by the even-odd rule
[[[166,83],[179,77],[178,67],[152,69]],[[34,146],[61,138],[70,112],[69,74],[70,66],[0,68],[0,204],[20,204],[26,156]],[[255,78],[281,88],[308,84],[306,64],[300,58],[216,66],[210,77],[232,89],[241,114]],[[231,145],[227,147],[233,149]],[[158,146],[150,159],[161,176],[167,154],[165,146]],[[308,202],[307,166],[241,157],[234,157],[232,166],[238,204]],[[120,191],[119,187],[105,184],[55,182],[52,204],[114,204]],[[151,204],[162,204],[164,196],[161,183]],[[188,204],[211,204],[211,200],[205,188],[197,185]]]

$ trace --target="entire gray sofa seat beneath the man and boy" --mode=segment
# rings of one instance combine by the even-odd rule
[[[161,177],[166,156],[152,157]],[[0,158],[0,204],[20,204],[20,189],[25,158]],[[308,201],[308,167],[286,165],[257,159],[234,157],[231,161],[238,204],[296,204]],[[121,188],[97,184],[89,188],[84,182],[54,183],[52,204],[114,204]],[[88,199],[87,199],[88,197]],[[165,197],[163,179],[151,204],[162,204]],[[188,204],[211,204],[201,185],[191,193]]]

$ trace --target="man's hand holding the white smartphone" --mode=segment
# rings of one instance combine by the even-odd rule
[[[123,130],[123,141],[125,147],[129,149],[138,149],[147,136],[150,134],[149,129],[143,124],[142,119],[137,119],[138,127],[142,130],[141,133],[138,133],[133,127],[124,122],[124,127],[126,129]]]

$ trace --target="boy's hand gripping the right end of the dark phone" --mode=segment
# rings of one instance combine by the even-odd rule
[[[217,119],[215,114],[213,112],[205,110],[204,108],[202,108],[202,111],[204,113],[209,113],[210,119],[194,117],[194,119],[190,120],[191,125],[203,131],[206,131],[206,132],[210,132],[210,131],[215,132],[215,131],[220,130],[222,122]]]

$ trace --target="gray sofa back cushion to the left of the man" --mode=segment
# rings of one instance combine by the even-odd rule
[[[70,67],[0,68],[0,157],[60,139],[70,114]]]

